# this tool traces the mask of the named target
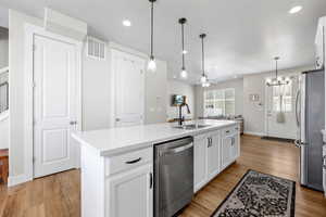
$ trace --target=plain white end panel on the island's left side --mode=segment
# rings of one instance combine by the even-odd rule
[[[104,217],[104,157],[82,145],[82,217]]]

